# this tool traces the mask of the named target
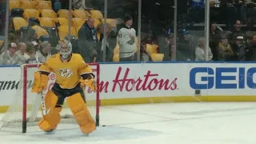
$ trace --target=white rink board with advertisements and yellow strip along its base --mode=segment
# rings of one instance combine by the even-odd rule
[[[256,63],[100,64],[101,105],[159,102],[254,102]],[[17,95],[19,66],[0,66],[0,111]]]

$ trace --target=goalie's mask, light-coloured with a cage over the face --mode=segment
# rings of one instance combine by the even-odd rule
[[[62,56],[63,60],[67,60],[70,58],[70,54],[72,53],[72,45],[70,42],[68,42],[66,39],[62,41],[60,44],[60,50],[59,53]]]

